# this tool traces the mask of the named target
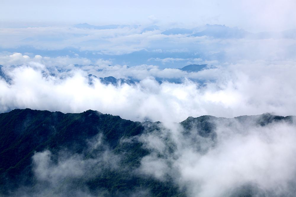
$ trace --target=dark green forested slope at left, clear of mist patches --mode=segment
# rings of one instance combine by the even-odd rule
[[[152,196],[180,194],[178,187],[171,182],[133,175],[132,170],[139,167],[141,158],[149,154],[149,150],[143,149],[142,143],[137,140],[131,143],[120,141],[143,131],[144,127],[139,122],[92,110],[78,114],[30,109],[2,113],[0,194],[9,196],[8,191],[17,190],[24,185],[31,188],[28,193],[38,190],[38,184],[41,183],[36,180],[32,171],[32,156],[36,152],[49,150],[52,161],[57,164],[60,151],[66,150],[72,155],[82,154],[84,159],[90,159],[101,157],[106,147],[112,154],[122,156],[118,161],[119,169],[98,166],[103,169],[101,173],[93,169],[89,173],[94,176],[85,176],[84,179],[67,178],[53,192],[63,194],[67,190],[67,194],[64,194],[68,196],[69,191],[82,191],[86,187],[94,195],[103,196],[129,196],[137,190],[148,191]],[[102,135],[102,145],[88,150],[88,140],[98,134]]]

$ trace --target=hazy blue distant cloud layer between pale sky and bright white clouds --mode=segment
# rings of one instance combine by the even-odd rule
[[[87,27],[1,28],[0,64],[10,66],[16,59],[22,63],[39,59],[40,63],[52,65],[54,62],[46,59],[56,58],[64,66],[87,65],[104,59],[128,66],[153,64],[160,68],[182,68],[217,61],[233,64],[241,60],[295,61],[295,29],[252,34],[238,28],[206,25],[187,29],[190,33],[169,29],[175,33],[163,34],[166,27]],[[16,52],[23,57],[14,55]]]

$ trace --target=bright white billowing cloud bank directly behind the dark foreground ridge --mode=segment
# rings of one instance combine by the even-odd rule
[[[294,61],[242,61],[190,73],[153,65],[108,66],[105,60],[98,63],[45,66],[36,60],[2,67],[11,81],[0,81],[1,112],[14,108],[64,113],[92,109],[133,121],[148,118],[172,122],[200,115],[295,115]],[[105,85],[93,77],[90,85],[89,74],[132,79],[136,83]],[[171,81],[176,79],[177,82]]]

